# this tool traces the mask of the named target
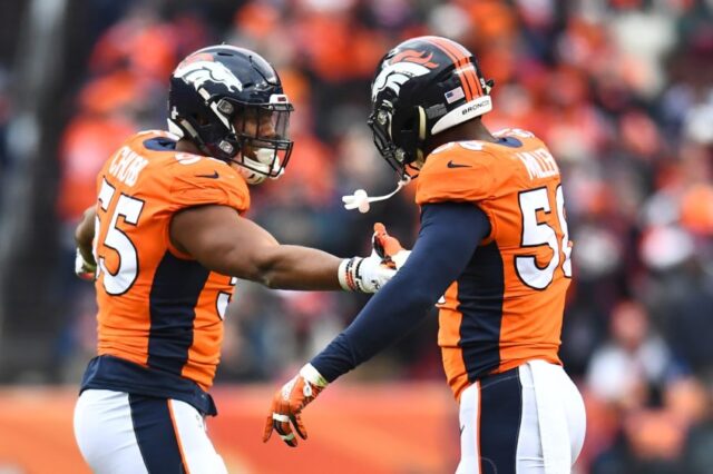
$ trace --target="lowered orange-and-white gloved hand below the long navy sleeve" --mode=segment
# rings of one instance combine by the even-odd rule
[[[263,443],[267,443],[272,432],[276,431],[287,446],[296,447],[297,438],[292,431],[293,427],[302,440],[306,440],[307,431],[302,423],[302,408],[316,398],[326,385],[328,382],[312,364],[302,367],[294,378],[275,392],[265,421]]]

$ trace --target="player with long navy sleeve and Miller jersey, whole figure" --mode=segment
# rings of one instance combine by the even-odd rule
[[[420,233],[389,285],[275,393],[263,441],[306,438],[304,406],[436,304],[460,405],[457,473],[570,472],[585,409],[557,354],[572,278],[559,169],[533,134],[486,128],[491,88],[445,38],[410,39],[381,60],[369,125],[401,178],[418,172]]]

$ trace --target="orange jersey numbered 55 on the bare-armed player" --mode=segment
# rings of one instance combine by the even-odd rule
[[[98,353],[138,364],[147,374],[194,381],[206,391],[235,279],[175,248],[170,219],[211,204],[244,213],[250,194],[226,162],[177,152],[176,140],[163,131],[138,134],[98,175]]]

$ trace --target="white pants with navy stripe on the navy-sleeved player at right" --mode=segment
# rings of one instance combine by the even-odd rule
[[[559,365],[544,361],[466,388],[459,417],[456,474],[568,474],[586,429],[579,391]]]

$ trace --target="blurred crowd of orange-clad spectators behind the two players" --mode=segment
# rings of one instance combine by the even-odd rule
[[[390,47],[432,33],[495,79],[485,124],[534,131],[559,161],[575,243],[561,357],[589,419],[580,471],[711,472],[713,1],[2,3],[0,382],[78,382],[95,302],[72,275],[74,227],[102,161],[165,128],[167,78],[206,45],[263,55],[295,105],[293,158],[253,188],[252,219],[340,256],[368,253],[381,220],[410,247],[413,186],[367,215],[341,196],[395,187],[365,125],[369,82]],[[217,382],[282,381],[364,302],[238,284]],[[429,318],[356,377],[442,379],[436,328]]]

